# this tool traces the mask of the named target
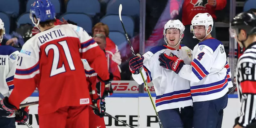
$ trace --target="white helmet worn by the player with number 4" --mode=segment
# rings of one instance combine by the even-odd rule
[[[213,19],[212,16],[209,13],[198,13],[194,16],[194,18],[191,21],[191,26],[190,26],[190,32],[194,34],[193,38],[196,38],[195,32],[194,32],[194,27],[195,25],[203,25],[205,26],[205,37],[208,36],[212,32],[212,27],[213,27]],[[211,25],[211,30],[207,34],[207,30],[209,26]],[[204,38],[205,38],[204,37]],[[198,40],[204,40],[203,39],[198,39]]]

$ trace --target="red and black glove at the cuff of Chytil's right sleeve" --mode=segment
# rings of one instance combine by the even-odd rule
[[[98,76],[99,82],[97,82],[96,84],[96,90],[100,98],[104,99],[106,96],[110,96],[113,94],[113,89],[111,85],[111,81],[113,80],[113,78],[114,76],[112,73],[109,73],[109,79],[105,81]]]

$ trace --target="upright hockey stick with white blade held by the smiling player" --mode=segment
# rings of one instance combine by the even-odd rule
[[[125,37],[126,37],[128,43],[129,43],[129,45],[130,45],[130,48],[131,48],[131,51],[132,51],[132,55],[133,55],[133,56],[136,56],[136,55],[135,55],[135,52],[133,51],[132,44],[131,44],[131,42],[130,42],[130,39],[129,39],[129,37],[128,37],[128,34],[127,34],[127,32],[126,32],[126,30],[125,30],[125,28],[124,28],[124,23],[123,23],[122,17],[121,17],[122,8],[123,8],[123,7],[122,7],[122,4],[120,4],[120,5],[119,5],[119,19],[120,19],[121,24],[122,24],[122,26],[123,26],[124,33],[125,33]],[[157,119],[158,119],[159,126],[160,126],[160,128],[164,128],[164,127],[163,127],[163,124],[162,124],[162,122],[161,122],[161,120],[160,120],[160,118],[159,118],[159,115],[158,115],[158,113],[157,113],[157,111],[156,111],[155,103],[154,103],[154,101],[153,101],[153,99],[152,99],[152,96],[151,96],[151,94],[150,94],[150,92],[149,92],[149,89],[148,89],[148,85],[147,85],[147,83],[146,83],[146,80],[145,80],[145,78],[144,78],[144,76],[143,76],[142,71],[141,71],[140,68],[139,68],[139,71],[140,71],[140,75],[141,75],[141,77],[142,77],[142,79],[143,79],[143,83],[144,83],[144,85],[145,85],[145,87],[146,87],[146,90],[147,90],[147,92],[148,92],[148,96],[149,96],[149,98],[150,98],[150,100],[151,100],[151,103],[152,103],[152,105],[153,105],[153,107],[154,107],[154,110],[155,110],[155,112],[156,112],[156,117],[157,117]]]

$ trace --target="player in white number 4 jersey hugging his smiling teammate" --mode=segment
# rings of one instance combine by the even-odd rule
[[[165,56],[169,69],[190,80],[194,128],[221,128],[223,109],[228,103],[230,69],[223,44],[212,38],[212,16],[198,13],[191,21],[191,32],[201,42],[193,49],[191,65],[177,56]],[[164,63],[165,64],[165,63]]]

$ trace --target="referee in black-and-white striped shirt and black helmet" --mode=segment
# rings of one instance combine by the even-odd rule
[[[229,28],[231,37],[245,48],[236,67],[236,83],[238,97],[241,102],[239,116],[235,120],[234,128],[256,127],[256,15],[252,11],[241,12],[231,21]]]

